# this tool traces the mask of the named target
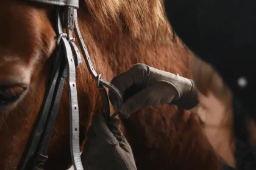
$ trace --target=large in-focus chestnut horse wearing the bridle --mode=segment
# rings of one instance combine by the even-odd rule
[[[105,80],[135,63],[191,78],[193,54],[172,35],[162,1],[84,0],[79,6],[82,37]],[[17,168],[43,102],[55,49],[51,7],[22,0],[0,2],[0,168],[4,170]],[[84,59],[76,78],[82,151],[91,118],[102,111],[102,103]],[[71,166],[68,110],[65,84],[45,169]],[[176,106],[146,107],[123,120],[122,130],[138,169],[219,169],[218,158],[191,112]]]

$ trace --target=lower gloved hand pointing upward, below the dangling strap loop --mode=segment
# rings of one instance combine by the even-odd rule
[[[118,119],[106,123],[102,114],[94,115],[87,137],[81,155],[85,169],[137,170],[132,149],[120,131]]]

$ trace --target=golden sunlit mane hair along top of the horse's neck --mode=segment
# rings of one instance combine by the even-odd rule
[[[171,27],[166,27],[169,23],[163,1],[85,0],[85,3],[94,19],[110,33],[113,25],[117,25],[119,32],[128,29],[133,38],[146,41],[166,36],[166,32],[172,37]]]

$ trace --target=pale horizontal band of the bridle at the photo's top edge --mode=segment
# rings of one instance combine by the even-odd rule
[[[43,4],[59,5],[59,6],[70,6],[79,8],[79,0],[28,0],[32,2],[40,2]]]

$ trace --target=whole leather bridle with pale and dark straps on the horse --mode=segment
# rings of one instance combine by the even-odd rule
[[[80,159],[79,144],[79,109],[76,87],[76,67],[79,67],[82,60],[79,49],[74,43],[75,39],[73,38],[73,30],[76,33],[77,41],[79,42],[80,50],[82,52],[82,56],[84,56],[87,68],[91,76],[97,82],[104,106],[104,116],[106,120],[109,120],[118,114],[121,104],[123,103],[123,98],[119,90],[116,89],[116,87],[112,84],[102,79],[101,75],[98,75],[96,70],[93,68],[87,47],[82,39],[79,25],[77,23],[77,9],[79,8],[79,0],[27,1],[54,5],[56,14],[54,22],[56,24],[55,32],[57,33],[57,46],[52,55],[53,64],[51,75],[49,77],[46,94],[44,95],[43,104],[41,106],[33,132],[30,135],[26,149],[18,165],[18,169],[44,169],[44,163],[46,163],[48,159],[47,151],[59,110],[64,83],[66,77],[68,77],[71,158],[74,169],[82,170],[83,167]],[[63,32],[63,29],[66,31]],[[116,109],[116,112],[111,117],[108,95],[105,87],[112,90],[112,92],[118,98],[118,109]]]

